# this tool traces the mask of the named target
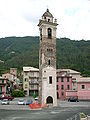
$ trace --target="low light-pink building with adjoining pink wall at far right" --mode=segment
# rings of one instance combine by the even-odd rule
[[[79,100],[90,100],[90,78],[81,77],[77,81],[77,91],[67,90],[66,98],[78,97]]]

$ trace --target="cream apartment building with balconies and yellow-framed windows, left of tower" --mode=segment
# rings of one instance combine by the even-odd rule
[[[39,69],[23,67],[23,89],[26,96],[38,94]]]

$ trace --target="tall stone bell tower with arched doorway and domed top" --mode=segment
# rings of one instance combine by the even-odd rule
[[[49,9],[39,20],[39,100],[41,104],[57,106],[56,96],[56,27],[57,20]]]

